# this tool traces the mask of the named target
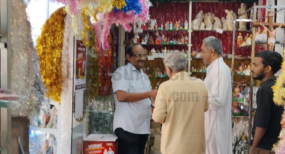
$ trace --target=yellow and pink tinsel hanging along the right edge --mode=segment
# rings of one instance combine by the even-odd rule
[[[285,48],[283,50],[283,57],[285,56]],[[282,72],[276,80],[276,84],[272,86],[273,90],[273,101],[276,105],[283,105],[285,109],[285,59],[282,63]],[[284,154],[285,153],[285,111],[281,117],[281,132],[279,135],[278,143],[273,145],[273,150],[276,154]]]

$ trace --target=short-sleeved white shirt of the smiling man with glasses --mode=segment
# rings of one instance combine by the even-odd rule
[[[119,102],[116,91],[142,93],[151,90],[150,81],[143,70],[140,72],[131,64],[119,67],[112,76],[115,98],[113,130],[123,128],[134,134],[150,134],[151,101],[149,98],[136,102]]]

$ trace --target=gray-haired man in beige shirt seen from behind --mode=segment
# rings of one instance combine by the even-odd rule
[[[204,82],[188,76],[187,58],[183,53],[165,57],[170,80],[158,89],[152,118],[162,123],[162,154],[204,154],[204,112],[208,94]]]

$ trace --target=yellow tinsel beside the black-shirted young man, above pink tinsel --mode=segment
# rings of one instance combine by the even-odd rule
[[[285,56],[285,49],[283,50],[283,56]],[[282,68],[285,68],[285,59],[282,62]],[[276,80],[276,84],[272,86],[273,101],[276,105],[285,104],[285,70],[282,70],[281,74]]]

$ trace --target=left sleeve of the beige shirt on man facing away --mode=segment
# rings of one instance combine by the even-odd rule
[[[166,93],[163,89],[163,86],[160,85],[158,88],[158,92],[154,102],[154,110],[152,113],[152,119],[155,122],[162,123],[167,116],[167,108],[166,108]]]

